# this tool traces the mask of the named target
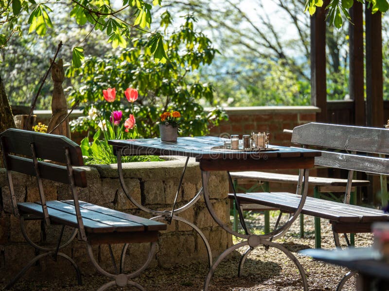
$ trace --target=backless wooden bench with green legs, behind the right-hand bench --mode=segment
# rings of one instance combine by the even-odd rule
[[[235,185],[238,185],[238,181],[248,181],[254,180],[256,184],[248,189],[248,192],[251,193],[253,190],[257,189],[261,185],[263,191],[269,192],[269,182],[275,183],[287,183],[287,184],[297,184],[299,180],[298,175],[289,175],[289,174],[280,174],[280,173],[268,173],[268,172],[258,172],[258,171],[245,171],[245,172],[231,172],[231,178],[234,179]],[[351,194],[350,202],[355,204],[355,187],[368,186],[370,181],[368,180],[352,180],[351,185]],[[323,197],[324,193],[330,194],[330,199],[336,200],[337,197],[334,197],[332,193],[346,192],[347,179],[338,179],[338,178],[324,178],[324,177],[309,177],[309,185],[314,187],[314,197],[320,198]],[[258,210],[258,205],[256,204],[243,204],[241,205],[243,210]],[[265,233],[270,231],[269,224],[269,214],[268,210],[265,211]],[[234,212],[235,214],[236,212]],[[234,223],[237,223],[237,220],[234,215]],[[236,228],[237,226],[235,226]],[[300,236],[304,236],[304,219],[303,214],[300,216]],[[354,236],[351,237],[351,243],[354,244]],[[321,237],[320,237],[320,219],[315,218],[315,246],[320,248],[321,246]]]

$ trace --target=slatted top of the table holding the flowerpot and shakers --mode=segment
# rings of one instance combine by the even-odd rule
[[[273,150],[264,151],[233,151],[212,149],[223,146],[229,139],[198,136],[179,137],[177,142],[162,142],[155,139],[135,140],[110,140],[108,144],[114,146],[115,153],[122,150],[122,155],[159,155],[159,156],[185,156],[199,159],[266,159],[272,158],[313,158],[320,155],[320,152],[303,148],[286,146],[269,146]]]

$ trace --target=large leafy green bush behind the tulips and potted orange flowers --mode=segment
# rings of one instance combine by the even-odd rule
[[[201,65],[211,64],[216,49],[211,41],[201,32],[193,29],[195,19],[186,16],[185,23],[177,32],[167,37],[166,64],[155,63],[150,49],[144,45],[151,37],[133,38],[130,49],[104,57],[86,59],[82,68],[68,71],[68,77],[80,77],[83,84],[78,90],[71,88],[72,101],[80,100],[85,116],[88,110],[95,107],[102,116],[109,117],[110,104],[101,98],[101,92],[108,87],[115,87],[118,92],[133,87],[140,98],[135,101],[133,112],[137,117],[140,137],[157,137],[159,115],[166,111],[178,110],[183,113],[180,129],[182,135],[204,135],[208,126],[218,125],[226,117],[220,108],[205,112],[201,101],[213,104],[213,88],[211,84],[200,83],[193,72]],[[170,15],[162,15],[161,26],[170,24]],[[128,115],[123,97],[116,98],[112,106]],[[97,124],[88,117],[71,123],[72,130],[95,131]]]

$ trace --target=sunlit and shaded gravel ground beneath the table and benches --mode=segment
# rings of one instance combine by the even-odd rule
[[[277,219],[276,211],[271,212],[271,221]],[[259,226],[254,230],[260,233],[263,229],[263,215],[249,216],[250,226]],[[282,243],[292,251],[300,260],[302,266],[308,271],[309,291],[335,290],[336,284],[347,273],[347,269],[314,261],[309,257],[300,256],[297,252],[315,245],[313,218],[305,217],[305,238],[299,237],[299,223],[296,221],[287,234],[276,242]],[[327,220],[321,221],[322,248],[334,248],[331,227]],[[341,238],[344,242],[344,239]],[[238,240],[234,240],[234,243]],[[371,234],[355,235],[356,246],[368,246],[372,242]],[[243,253],[245,248],[239,249]],[[256,248],[245,263],[243,275],[237,276],[239,253],[231,259],[222,262],[212,277],[210,290],[212,291],[300,291],[301,278],[296,266],[275,248],[265,250],[263,246]],[[206,263],[192,263],[190,265],[177,265],[174,268],[154,268],[146,270],[141,276],[135,278],[149,291],[199,291],[208,272]],[[74,278],[65,280],[31,281],[22,280],[12,290],[17,291],[87,291],[97,290],[108,280],[104,276],[84,276],[83,285],[78,286]],[[0,282],[0,288],[5,282]],[[135,288],[110,288],[109,290],[137,290]],[[343,290],[355,291],[355,278],[349,280]]]

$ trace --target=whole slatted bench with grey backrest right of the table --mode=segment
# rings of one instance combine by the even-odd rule
[[[301,211],[302,214],[329,219],[337,246],[340,245],[338,233],[370,232],[371,223],[389,221],[389,215],[383,210],[347,204],[354,171],[389,174],[389,159],[378,157],[378,154],[389,154],[388,129],[309,123],[293,129],[292,143],[321,150],[322,155],[315,158],[318,166],[348,170],[346,203],[307,197]],[[230,197],[233,198],[233,195],[230,194]],[[295,211],[296,201],[300,199],[296,194],[269,192],[237,194],[237,197],[241,204],[255,203],[284,212]]]

